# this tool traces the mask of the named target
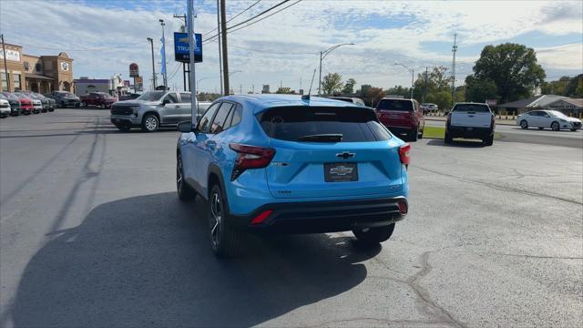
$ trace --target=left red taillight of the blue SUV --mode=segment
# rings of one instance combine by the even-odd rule
[[[233,173],[230,176],[231,181],[239,178],[245,169],[265,168],[275,156],[275,149],[271,148],[241,145],[232,142],[229,144],[229,148],[237,151],[237,159],[235,159]]]

